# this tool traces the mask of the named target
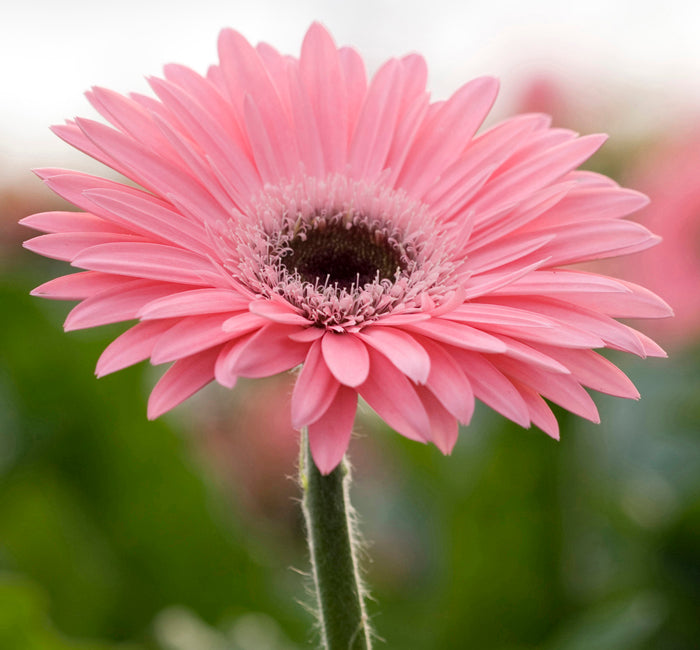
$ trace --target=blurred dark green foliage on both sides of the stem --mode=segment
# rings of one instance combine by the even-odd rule
[[[122,328],[64,334],[66,305],[28,295],[62,272],[18,254],[0,280],[0,648],[312,647],[294,458],[232,442],[262,508],[219,480],[207,402],[148,422],[150,367],[93,376]],[[599,426],[559,412],[560,443],[478,409],[445,458],[362,418],[353,500],[378,648],[698,646],[698,355],[618,361],[642,400],[597,396]],[[234,424],[247,390],[206,399]]]

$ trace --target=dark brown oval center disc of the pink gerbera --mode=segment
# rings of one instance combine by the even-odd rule
[[[364,287],[375,280],[394,280],[405,267],[400,252],[379,231],[363,224],[350,228],[342,221],[323,223],[289,242],[284,265],[305,282],[337,285],[340,289]]]

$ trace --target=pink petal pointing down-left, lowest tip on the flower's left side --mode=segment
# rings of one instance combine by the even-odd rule
[[[160,378],[148,400],[148,419],[175,408],[214,379],[214,363],[221,347],[176,361]]]

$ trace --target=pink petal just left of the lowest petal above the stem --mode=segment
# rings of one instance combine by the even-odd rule
[[[292,426],[313,424],[328,410],[340,384],[323,360],[321,341],[311,344],[292,392]]]

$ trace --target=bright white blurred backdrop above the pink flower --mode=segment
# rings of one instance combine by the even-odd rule
[[[523,79],[545,70],[585,79],[584,92],[624,97],[630,123],[671,123],[700,100],[700,3],[671,0],[53,0],[5,4],[0,12],[0,174],[81,164],[48,131],[93,115],[92,85],[144,91],[163,64],[204,72],[216,36],[232,26],[297,54],[312,20],[354,45],[373,70],[409,51],[428,60],[430,86],[445,96],[470,77],[503,82],[507,110]],[[14,171],[12,172],[14,173]]]

